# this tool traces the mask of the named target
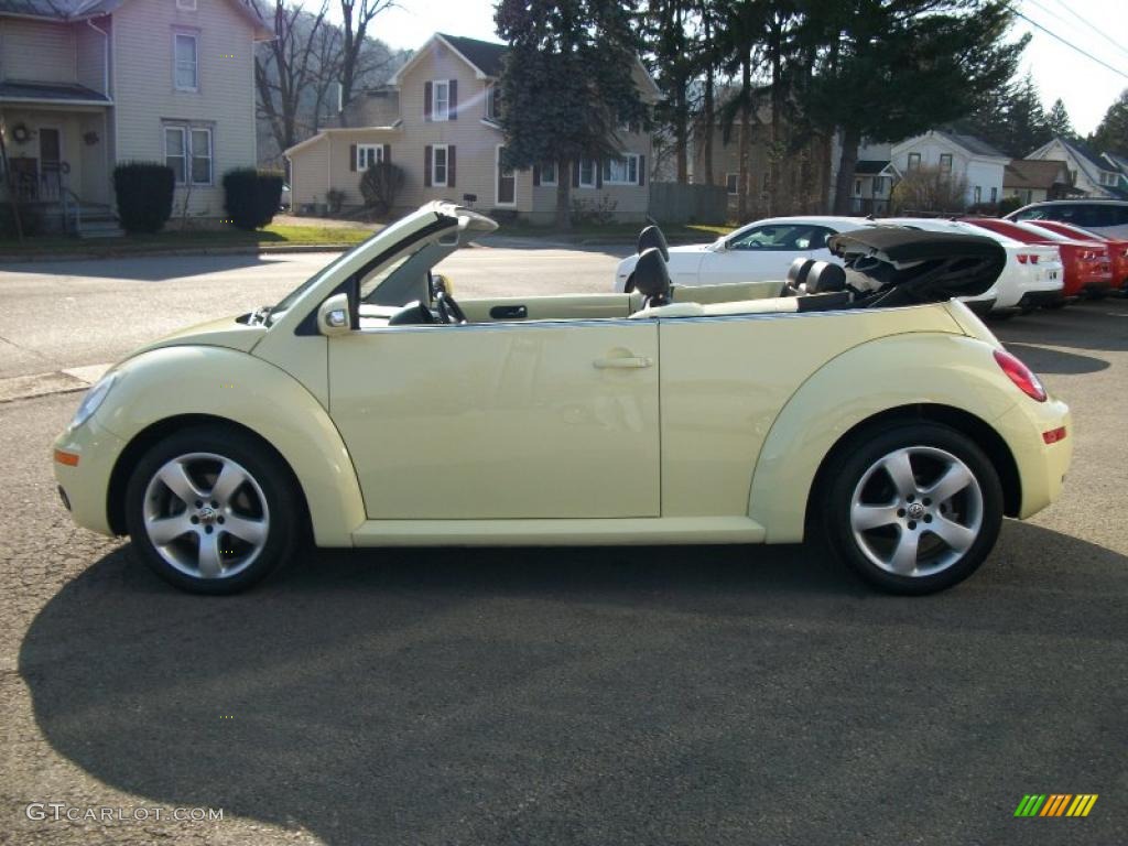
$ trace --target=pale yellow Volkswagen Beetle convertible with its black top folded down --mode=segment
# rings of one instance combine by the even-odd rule
[[[73,519],[174,584],[233,592],[303,548],[787,544],[873,585],[971,574],[1059,494],[1067,407],[952,297],[995,241],[832,239],[845,268],[457,301],[432,268],[493,231],[423,206],[285,299],[135,352],[55,442]]]

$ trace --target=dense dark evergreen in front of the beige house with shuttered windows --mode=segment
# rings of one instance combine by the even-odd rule
[[[505,161],[556,166],[556,223],[571,223],[572,169],[619,152],[618,133],[649,116],[634,81],[635,0],[499,0]]]

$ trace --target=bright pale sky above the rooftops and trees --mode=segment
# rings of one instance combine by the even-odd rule
[[[417,47],[435,30],[496,41],[493,0],[398,0],[377,18],[374,35],[394,47]],[[1126,0],[1019,0],[1023,15],[1111,64],[1102,68],[1024,20],[1015,37],[1033,38],[1023,55],[1047,108],[1060,97],[1074,126],[1091,132],[1105,109],[1128,88],[1128,2]]]

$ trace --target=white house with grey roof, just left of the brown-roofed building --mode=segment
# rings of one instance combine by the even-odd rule
[[[973,135],[951,130],[929,130],[899,141],[891,151],[893,167],[909,174],[922,167],[940,168],[968,183],[968,205],[997,203],[1003,196],[1003,178],[1011,157]],[[1057,157],[1054,157],[1057,158]]]

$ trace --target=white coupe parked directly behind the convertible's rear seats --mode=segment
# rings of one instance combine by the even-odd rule
[[[831,255],[827,241],[839,232],[869,229],[889,221],[869,218],[840,218],[827,215],[768,218],[721,236],[712,244],[670,247],[669,271],[675,287],[724,285],[738,282],[779,281],[787,276],[787,268],[796,258],[820,262],[840,259]],[[949,221],[928,221],[945,223]],[[917,229],[927,229],[919,226]],[[943,229],[942,231],[957,231]],[[968,235],[967,227],[958,230]],[[973,233],[982,235],[975,230]],[[632,291],[632,274],[638,256],[624,258],[615,271],[615,291]],[[1007,265],[1014,262],[1008,258]],[[1060,267],[1060,263],[1058,265]],[[1058,283],[1060,288],[1060,283]],[[961,297],[973,311],[982,315],[997,306],[997,283],[976,297]],[[1010,298],[1008,298],[1010,299]],[[1019,297],[1014,297],[1012,306]]]

